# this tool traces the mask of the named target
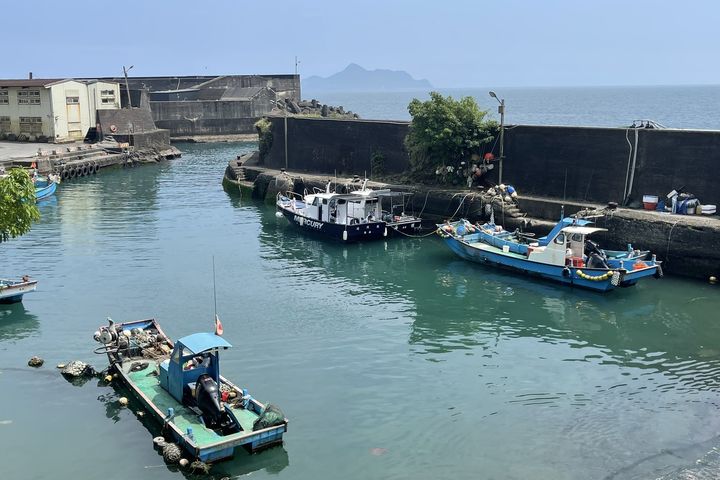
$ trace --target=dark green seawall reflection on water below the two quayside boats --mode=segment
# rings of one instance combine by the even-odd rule
[[[568,362],[661,372],[658,390],[720,388],[720,324],[705,313],[720,302],[695,284],[663,279],[603,295],[457,260],[433,237],[328,242],[256,207],[266,260],[290,278],[335,282],[340,294],[402,302],[412,351],[428,359],[492,358],[499,342],[527,338],[563,345]]]

